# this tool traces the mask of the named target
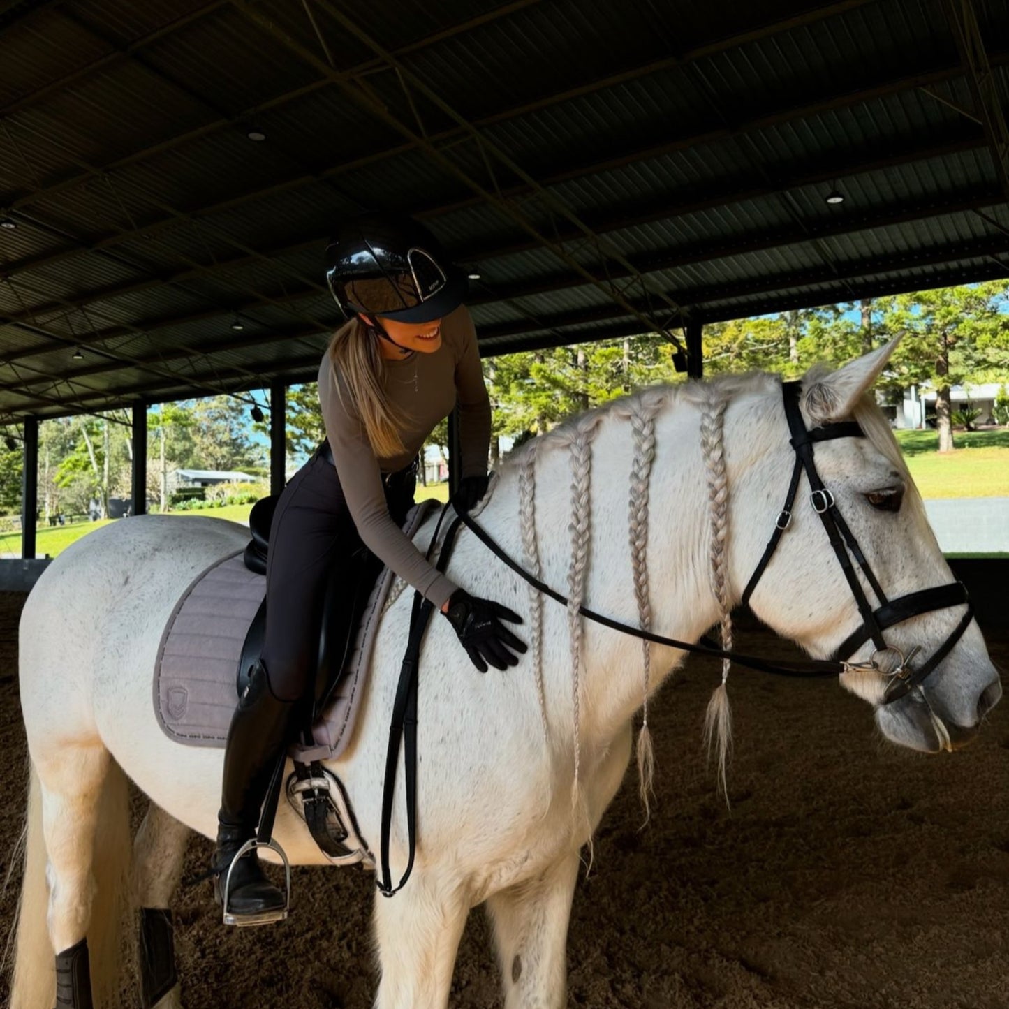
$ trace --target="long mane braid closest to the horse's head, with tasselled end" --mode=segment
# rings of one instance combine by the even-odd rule
[[[711,538],[711,583],[718,609],[721,613],[721,647],[728,651],[733,647],[732,604],[726,576],[727,558],[725,546],[728,539],[728,477],[725,471],[724,422],[728,399],[718,388],[709,388],[709,398],[701,410],[700,442],[707,470],[707,496],[710,502]],[[725,780],[725,761],[728,756],[732,737],[732,715],[728,707],[728,693],[725,681],[728,678],[730,660],[721,660],[721,684],[711,695],[704,719],[704,738],[708,753],[716,746],[718,760],[718,786],[725,801],[728,789]]]

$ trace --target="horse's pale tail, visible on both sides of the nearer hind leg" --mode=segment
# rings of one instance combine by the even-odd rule
[[[126,776],[115,761],[109,763],[99,801],[92,863],[95,897],[88,926],[88,951],[96,1009],[109,1009],[120,1004],[122,960],[126,947],[122,926],[132,904],[129,790]],[[55,1002],[55,950],[46,926],[45,862],[42,786],[32,767],[10,1009],[49,1009]],[[132,931],[127,932],[127,941]]]

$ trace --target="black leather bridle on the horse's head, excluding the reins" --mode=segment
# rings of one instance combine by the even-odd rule
[[[799,397],[801,395],[801,384],[797,381],[782,383],[782,396],[785,404],[785,417],[788,420],[788,429],[791,434],[790,444],[795,450],[795,465],[792,467],[792,476],[788,484],[788,493],[785,496],[785,504],[782,508],[775,523],[774,532],[764,549],[756,570],[750,577],[746,590],[743,593],[742,601],[748,603],[753,595],[757,583],[767,569],[767,566],[774,555],[775,549],[781,540],[782,535],[791,526],[792,510],[795,506],[795,495],[798,491],[799,480],[803,471],[809,481],[809,500],[813,511],[820,517],[823,528],[826,530],[827,539],[837,557],[845,579],[848,581],[852,595],[855,596],[856,605],[862,616],[862,627],[849,635],[833,653],[833,659],[840,661],[848,666],[849,670],[871,670],[889,678],[889,684],[884,694],[883,704],[890,704],[900,697],[903,697],[910,690],[919,687],[929,673],[949,654],[954,646],[960,641],[962,635],[967,630],[968,625],[974,619],[974,611],[971,608],[967,596],[967,588],[963,582],[955,581],[948,585],[939,585],[935,588],[925,588],[918,592],[911,592],[902,595],[897,599],[887,599],[876,575],[873,574],[869,562],[859,547],[848,523],[842,518],[837,510],[833,494],[823,485],[819,473],[816,471],[816,463],[813,457],[813,449],[817,442],[831,441],[834,438],[864,438],[865,432],[856,421],[845,421],[839,424],[827,424],[823,427],[806,428],[802,420],[802,413],[799,410]],[[873,594],[879,603],[874,609],[866,596],[859,580],[855,565],[858,564],[862,574]],[[892,645],[887,645],[883,638],[883,632],[887,628],[900,624],[902,621],[921,613],[930,612],[933,609],[945,609],[948,606],[967,605],[967,611],[961,622],[952,630],[946,640],[935,650],[931,657],[920,666],[912,668],[911,659],[919,651],[918,647],[913,648],[906,656]],[[876,646],[868,662],[849,663],[849,656],[857,652],[867,641],[872,641]],[[884,663],[885,656],[890,656],[890,663]]]

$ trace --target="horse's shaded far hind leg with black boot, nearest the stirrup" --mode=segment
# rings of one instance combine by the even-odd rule
[[[151,802],[133,843],[143,1009],[182,1007],[170,908],[182,877],[189,833],[188,826]]]

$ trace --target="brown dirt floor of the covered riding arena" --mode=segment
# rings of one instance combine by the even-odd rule
[[[23,809],[15,675],[23,599],[0,593],[0,875]],[[792,654],[766,632],[740,637],[761,654]],[[989,646],[1009,669],[1009,635],[989,635]],[[575,894],[568,1005],[1009,1007],[1009,701],[971,747],[929,758],[884,744],[868,706],[832,681],[737,669],[728,813],[700,747],[716,682],[712,664],[690,660],[654,706],[657,809],[640,830],[629,774]],[[209,854],[209,842],[194,840],[187,872]],[[15,865],[0,900],[3,934],[19,874]],[[294,917],[269,930],[223,928],[209,883],[181,896],[188,1007],[370,1005],[370,877],[301,869],[294,887]],[[7,985],[0,980],[3,1005]],[[499,1004],[476,909],[451,1005]]]

